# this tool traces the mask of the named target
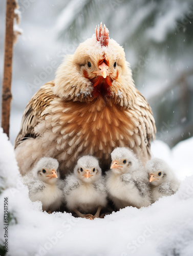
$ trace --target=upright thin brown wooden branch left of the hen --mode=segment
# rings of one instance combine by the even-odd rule
[[[11,76],[13,55],[13,19],[16,7],[15,0],[7,0],[6,5],[6,36],[4,56],[4,78],[2,91],[2,127],[4,133],[9,137],[9,119],[11,109]]]

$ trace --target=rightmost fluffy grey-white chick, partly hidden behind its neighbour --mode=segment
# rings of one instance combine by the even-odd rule
[[[149,174],[149,182],[151,182],[153,202],[160,197],[176,193],[180,182],[166,162],[159,158],[152,158],[146,163],[145,169]]]

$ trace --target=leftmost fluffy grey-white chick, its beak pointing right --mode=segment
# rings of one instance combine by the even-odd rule
[[[24,177],[32,202],[41,201],[42,210],[49,213],[59,209],[63,201],[62,181],[57,179],[58,161],[51,157],[41,158]]]

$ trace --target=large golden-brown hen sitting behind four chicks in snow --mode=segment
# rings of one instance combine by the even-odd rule
[[[29,101],[15,140],[23,175],[44,156],[59,161],[62,176],[83,155],[108,169],[115,147],[130,147],[143,163],[151,158],[151,107],[135,88],[123,48],[102,24],[95,31]]]

